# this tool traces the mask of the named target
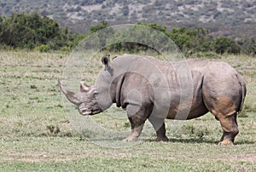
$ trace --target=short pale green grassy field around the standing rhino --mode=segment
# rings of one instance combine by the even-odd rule
[[[208,113],[182,123],[177,132],[173,122],[166,121],[168,142],[154,142],[150,131],[139,144],[123,145],[120,139],[114,144],[121,148],[111,148],[100,144],[111,142],[108,135],[96,142],[80,135],[63,108],[57,78],[62,77],[67,57],[0,52],[0,171],[256,170],[255,58],[227,55],[215,59],[227,61],[247,80],[245,111],[238,118],[240,134],[235,146],[217,145],[222,129]],[[109,117],[109,112],[121,113],[122,118]],[[125,112],[109,112],[91,119],[109,129],[130,130]],[[75,109],[73,113],[89,119]]]

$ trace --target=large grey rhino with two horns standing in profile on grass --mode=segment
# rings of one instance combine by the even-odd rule
[[[127,112],[135,141],[148,119],[157,141],[167,141],[165,119],[189,120],[211,112],[220,122],[219,145],[233,145],[238,134],[236,121],[246,93],[246,83],[225,62],[189,59],[158,60],[152,56],[122,54],[102,57],[96,83],[80,82],[80,91],[68,91],[58,80],[67,100],[81,115],[104,112],[113,104]]]

